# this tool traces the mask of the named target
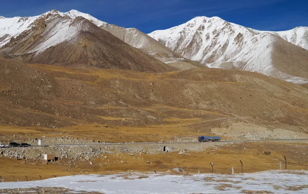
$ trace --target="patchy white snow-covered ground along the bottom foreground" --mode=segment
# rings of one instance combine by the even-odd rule
[[[102,193],[308,193],[308,171],[266,171],[249,174],[75,175],[44,181],[0,183],[0,189],[64,187]]]

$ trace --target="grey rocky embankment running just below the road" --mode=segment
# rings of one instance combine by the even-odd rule
[[[53,154],[55,157],[78,160],[87,157],[100,157],[102,154],[128,153],[128,154],[159,154],[164,152],[203,151],[208,147],[223,146],[232,143],[184,143],[184,144],[93,144],[72,146],[50,146],[29,148],[3,148],[0,157],[10,158],[43,158],[44,154]]]

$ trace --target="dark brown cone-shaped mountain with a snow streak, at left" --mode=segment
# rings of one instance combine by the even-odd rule
[[[166,72],[174,70],[83,17],[46,16],[3,47],[31,63]]]

